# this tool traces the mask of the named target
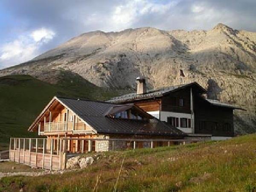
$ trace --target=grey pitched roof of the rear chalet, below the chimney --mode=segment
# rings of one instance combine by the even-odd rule
[[[118,97],[113,97],[107,102],[110,103],[118,103],[118,102],[127,102],[127,101],[132,101],[132,100],[140,100],[140,99],[148,99],[152,97],[161,97],[165,94],[171,93],[173,91],[183,89],[185,87],[193,86],[198,89],[198,92],[200,93],[207,93],[207,91],[201,87],[197,82],[189,83],[189,84],[180,84],[180,85],[175,85],[171,87],[164,87],[164,88],[158,88],[154,90],[148,90],[147,93],[145,94],[140,94],[137,95],[137,93],[129,93],[126,95],[118,96]]]

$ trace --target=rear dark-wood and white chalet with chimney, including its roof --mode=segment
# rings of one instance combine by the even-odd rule
[[[211,136],[214,140],[233,137],[233,110],[241,108],[206,99],[205,94],[207,91],[196,82],[146,90],[145,79],[138,77],[137,93],[108,102],[133,103],[189,136]]]

